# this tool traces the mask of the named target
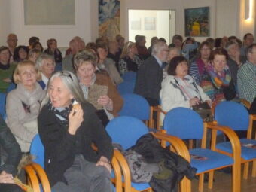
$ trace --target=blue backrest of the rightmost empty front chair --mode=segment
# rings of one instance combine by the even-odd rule
[[[215,120],[233,130],[248,130],[249,126],[248,111],[237,102],[220,102],[215,107]]]

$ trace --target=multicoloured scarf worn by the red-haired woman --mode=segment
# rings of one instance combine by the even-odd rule
[[[215,87],[217,87],[218,89],[223,86],[229,86],[231,76],[227,65],[224,67],[224,70],[222,72],[216,72],[212,65],[207,66],[206,71],[211,76],[212,83],[215,84]]]

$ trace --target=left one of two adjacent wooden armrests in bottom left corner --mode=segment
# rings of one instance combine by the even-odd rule
[[[28,176],[28,184],[31,186],[34,190],[34,192],[41,192],[38,177],[35,174],[35,170],[33,169],[32,165],[26,165],[23,167],[23,169],[26,172],[26,175]]]

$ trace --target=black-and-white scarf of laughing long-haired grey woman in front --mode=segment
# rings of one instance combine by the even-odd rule
[[[69,124],[69,113],[72,110],[72,103],[73,103],[73,100],[70,103],[69,107],[62,108],[62,110],[59,110],[58,108],[54,108],[49,100],[49,102],[47,103],[47,108],[49,111],[52,111],[53,114],[56,115],[56,117],[58,117],[58,116],[62,117],[62,119],[59,118],[61,120],[62,124],[68,125]]]

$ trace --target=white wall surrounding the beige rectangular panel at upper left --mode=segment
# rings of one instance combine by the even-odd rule
[[[95,0],[75,0],[75,26],[25,26],[23,1],[1,0],[1,8],[2,3],[9,2],[10,4],[9,15],[5,14],[4,16],[6,19],[10,17],[10,23],[9,25],[5,23],[5,26],[8,26],[8,31],[3,32],[0,29],[0,33],[4,33],[5,37],[9,32],[16,33],[19,39],[18,44],[28,44],[31,36],[38,36],[43,47],[47,47],[46,41],[48,38],[56,38],[59,47],[68,47],[69,41],[76,35],[84,38],[85,42],[91,41],[91,26],[93,23],[91,22],[91,13],[96,12],[91,10],[92,1],[96,2]],[[1,44],[4,43],[5,41],[1,40]]]

